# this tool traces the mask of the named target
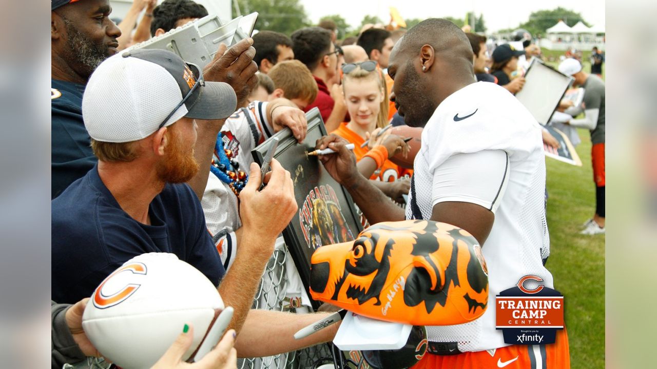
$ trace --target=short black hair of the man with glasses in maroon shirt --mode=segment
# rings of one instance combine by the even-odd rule
[[[330,53],[330,32],[324,28],[307,27],[296,30],[290,37],[294,58],[306,64],[312,72],[325,54]]]

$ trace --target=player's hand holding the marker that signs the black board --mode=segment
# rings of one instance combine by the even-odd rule
[[[317,150],[330,148],[336,151],[335,154],[320,155],[319,160],[333,179],[347,187],[351,186],[360,176],[356,167],[356,157],[351,150],[346,148],[348,143],[338,135],[328,135],[317,140],[317,144],[315,144]]]

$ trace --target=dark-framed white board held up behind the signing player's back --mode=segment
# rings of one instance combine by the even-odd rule
[[[525,85],[516,93],[516,97],[541,125],[546,125],[572,81],[573,77],[532,58],[525,74]]]

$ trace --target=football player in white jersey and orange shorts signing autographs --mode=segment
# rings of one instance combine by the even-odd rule
[[[388,66],[397,111],[424,127],[406,214],[359,175],[344,141],[327,136],[321,157],[371,223],[430,219],[461,227],[482,245],[489,272],[488,309],[467,324],[428,327],[428,355],[417,368],[570,368],[568,337],[553,345],[509,345],[495,330],[495,295],[528,274],[553,278],[541,252],[545,156],[541,127],[507,90],[476,82],[472,47],[457,26],[428,19],[397,43]]]

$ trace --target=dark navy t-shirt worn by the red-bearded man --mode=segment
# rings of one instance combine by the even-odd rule
[[[175,253],[219,286],[225,270],[196,194],[166,185],[150,203],[151,225],[135,221],[102,183],[95,166],[52,202],[52,299],[76,303],[125,261]]]

